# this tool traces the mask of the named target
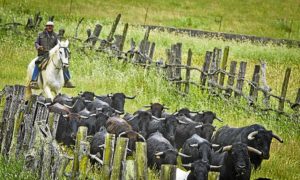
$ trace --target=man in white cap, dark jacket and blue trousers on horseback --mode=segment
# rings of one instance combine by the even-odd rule
[[[46,23],[46,28],[43,32],[40,32],[36,41],[35,41],[35,48],[38,51],[38,58],[35,61],[35,67],[32,74],[32,79],[30,82],[30,87],[32,89],[39,89],[37,79],[39,75],[39,65],[49,58],[49,51],[55,47],[58,43],[58,36],[53,31],[54,23],[52,21],[48,21]],[[66,67],[63,69],[65,84],[64,87],[66,88],[74,88],[75,86],[71,83],[70,79],[70,72],[69,69]]]

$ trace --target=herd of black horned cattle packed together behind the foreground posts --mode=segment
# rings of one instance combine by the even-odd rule
[[[183,108],[170,114],[163,104],[151,103],[144,106],[148,110],[125,113],[125,100],[134,98],[92,92],[72,98],[56,96],[49,106],[50,111],[62,114],[56,140],[74,145],[78,127],[86,126],[92,136],[90,153],[98,157],[103,155],[107,133],[127,137],[129,155],[135,151],[135,142],[146,141],[150,167],[177,164],[177,156],[181,156],[183,166],[190,170],[187,179],[207,179],[208,171],[220,172],[220,179],[250,179],[252,167],[257,169],[262,160],[269,159],[272,139],[283,142],[258,124],[216,130],[214,120],[222,120],[211,111]]]

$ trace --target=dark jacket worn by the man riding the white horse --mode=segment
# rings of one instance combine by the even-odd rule
[[[42,56],[50,51],[57,43],[57,34],[55,32],[48,32],[46,29],[40,32],[35,41],[35,48],[38,50],[39,46],[43,46],[44,49],[38,50],[38,56]]]

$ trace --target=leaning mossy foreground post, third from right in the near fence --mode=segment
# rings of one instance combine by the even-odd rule
[[[113,167],[111,171],[111,180],[118,180],[123,179],[123,164],[126,161],[127,155],[127,146],[128,146],[128,138],[119,137],[117,139],[114,160],[113,160]]]

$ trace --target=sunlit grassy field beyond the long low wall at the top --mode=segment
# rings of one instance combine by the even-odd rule
[[[19,12],[41,10],[71,18],[84,15],[111,20],[122,13],[124,20],[131,24],[300,39],[300,1],[297,0],[48,0],[43,3],[39,0],[2,0],[1,6]]]

